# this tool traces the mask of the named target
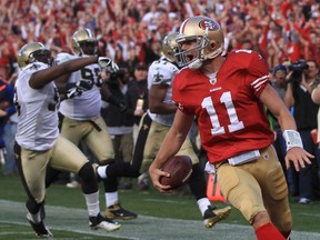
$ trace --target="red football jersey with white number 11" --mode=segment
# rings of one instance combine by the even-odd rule
[[[272,143],[273,133],[259,100],[267,84],[267,62],[250,50],[230,52],[216,79],[188,68],[176,76],[173,101],[180,111],[198,117],[211,163]]]

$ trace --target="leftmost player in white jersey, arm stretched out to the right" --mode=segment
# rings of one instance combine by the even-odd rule
[[[27,219],[37,236],[52,237],[44,226],[46,171],[50,166],[78,173],[83,179],[89,224],[92,229],[114,231],[120,224],[100,214],[98,181],[92,166],[82,152],[59,134],[58,108],[60,98],[54,80],[88,64],[110,63],[96,56],[70,60],[51,67],[50,50],[40,42],[29,42],[17,56],[21,72],[16,82],[14,103],[18,111],[14,157],[20,178],[28,196]],[[73,89],[82,91],[81,82]]]

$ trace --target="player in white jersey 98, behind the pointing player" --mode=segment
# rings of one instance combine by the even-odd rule
[[[90,29],[81,29],[72,36],[72,50],[73,56],[69,53],[59,53],[57,56],[57,63],[68,62],[70,59],[81,59],[88,56],[96,56],[98,49],[98,42],[94,33]],[[113,66],[108,69],[108,73],[117,71],[118,66]],[[114,163],[114,151],[112,146],[112,139],[108,133],[107,126],[102,119],[101,111],[101,97],[103,100],[118,104],[122,108],[122,103],[118,101],[108,91],[107,84],[101,80],[101,68],[97,63],[86,66],[79,71],[70,74],[64,74],[57,80],[59,86],[63,86],[67,81],[68,86],[72,86],[73,82],[79,80],[88,82],[91,88],[83,91],[81,94],[74,92],[73,98],[67,98],[61,102],[60,113],[63,116],[61,134],[73,142],[76,146],[82,141],[93,156],[98,159],[99,164]],[[69,93],[70,94],[70,93]],[[137,214],[123,209],[118,199],[118,181],[120,177],[116,172],[117,170],[126,171],[129,163],[117,162],[109,168],[112,173],[108,174],[108,178],[103,179],[104,197],[106,197],[106,214],[110,219],[130,220],[136,219]],[[116,171],[111,170],[117,168]],[[113,174],[113,177],[112,177]],[[126,176],[126,173],[123,173]],[[136,173],[133,174],[133,177]],[[132,177],[129,173],[129,177]]]

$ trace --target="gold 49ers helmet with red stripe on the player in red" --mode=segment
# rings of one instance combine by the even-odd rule
[[[197,40],[197,46],[188,50],[181,49],[181,44],[190,40]],[[174,54],[176,62],[179,67],[188,64],[190,69],[200,68],[204,60],[214,59],[224,50],[224,37],[220,24],[203,16],[184,20],[176,41],[179,46],[179,52]]]

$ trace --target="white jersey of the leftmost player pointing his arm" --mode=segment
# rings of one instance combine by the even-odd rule
[[[16,82],[14,102],[18,110],[16,141],[23,148],[44,151],[53,147],[59,136],[59,93],[54,82],[41,89],[29,86],[32,73],[47,69],[48,64],[33,62],[19,74]]]

